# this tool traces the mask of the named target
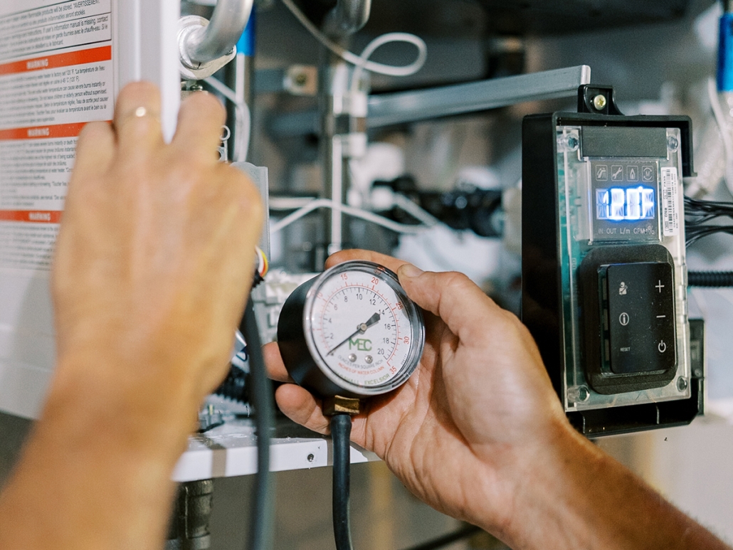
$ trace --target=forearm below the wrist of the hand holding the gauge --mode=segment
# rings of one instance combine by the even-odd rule
[[[729,549],[571,428],[559,433],[517,496],[512,548]]]

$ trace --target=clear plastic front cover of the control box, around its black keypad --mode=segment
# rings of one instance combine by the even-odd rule
[[[581,128],[557,131],[559,257],[566,372],[564,406],[581,411],[690,396],[687,267],[679,128],[667,128],[666,158],[589,158],[581,155]],[[578,267],[592,249],[658,243],[674,260],[677,374],[666,386],[601,395],[586,382],[581,362]]]

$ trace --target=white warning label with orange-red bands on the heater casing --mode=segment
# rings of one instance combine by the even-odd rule
[[[47,271],[86,122],[111,120],[111,0],[0,7],[0,268]],[[29,5],[31,4],[31,5]]]

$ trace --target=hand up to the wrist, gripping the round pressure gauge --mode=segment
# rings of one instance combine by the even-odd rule
[[[511,313],[457,273],[421,273],[375,252],[339,252],[327,267],[370,260],[399,276],[426,310],[425,351],[397,391],[365,402],[352,439],[373,450],[410,491],[451,516],[502,533],[517,483],[527,483],[539,450],[566,422],[537,347]],[[276,345],[270,374],[287,381]],[[320,401],[299,386],[276,393],[295,422],[328,433]],[[487,520],[490,521],[487,524]]]

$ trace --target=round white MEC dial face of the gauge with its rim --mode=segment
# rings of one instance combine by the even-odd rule
[[[388,392],[420,360],[422,314],[397,276],[375,263],[346,262],[325,271],[309,291],[304,317],[316,364],[351,392]]]

